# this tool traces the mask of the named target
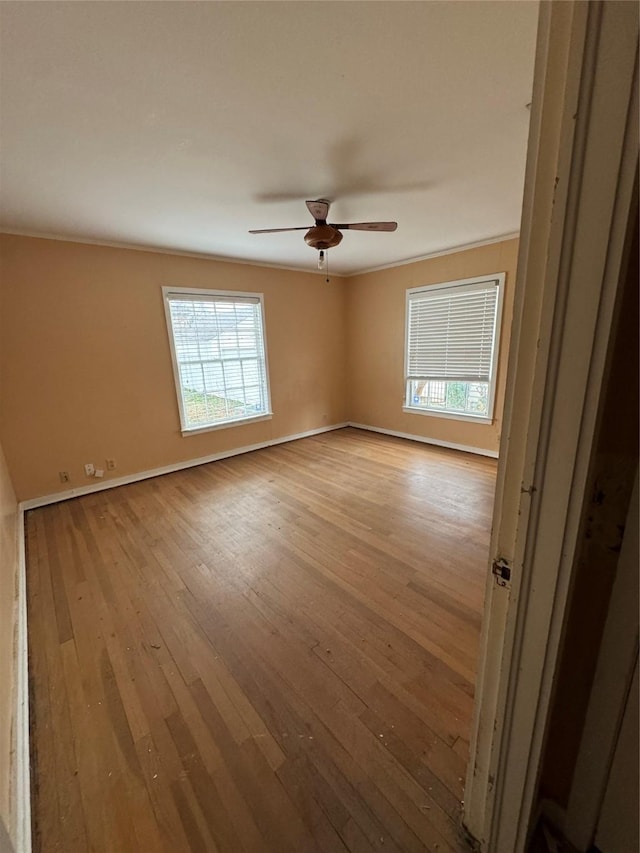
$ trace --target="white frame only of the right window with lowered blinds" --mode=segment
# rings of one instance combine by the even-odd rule
[[[500,355],[500,335],[502,330],[502,305],[504,299],[504,284],[506,273],[490,273],[489,275],[473,276],[472,278],[461,278],[453,281],[444,281],[437,284],[424,284],[419,287],[411,287],[406,291],[405,296],[405,337],[404,337],[404,405],[402,411],[412,415],[428,415],[437,418],[450,418],[452,420],[465,421],[470,423],[491,424],[495,420],[495,399],[496,386],[498,377],[498,360]],[[442,409],[425,409],[418,406],[412,406],[409,393],[409,377],[408,377],[408,362],[409,362],[409,304],[413,295],[418,293],[435,293],[438,290],[452,290],[456,287],[470,287],[472,285],[482,284],[483,282],[496,283],[498,288],[498,296],[496,299],[496,320],[493,329],[493,340],[491,348],[491,369],[488,380],[487,392],[487,415],[472,415],[465,412],[447,411]],[[434,380],[438,381],[438,380]],[[440,380],[446,382],[455,382],[456,380]],[[485,380],[480,380],[485,381]]]

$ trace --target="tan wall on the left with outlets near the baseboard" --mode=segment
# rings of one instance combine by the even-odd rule
[[[120,477],[346,418],[342,279],[11,235],[0,251],[0,435],[19,500],[96,483],[86,462],[115,458]],[[163,285],[264,293],[271,420],[182,437]]]

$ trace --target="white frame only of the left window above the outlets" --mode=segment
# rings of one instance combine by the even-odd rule
[[[176,342],[173,332],[173,322],[171,318],[171,296],[203,296],[209,301],[215,301],[215,297],[224,299],[251,299],[256,300],[260,309],[260,321],[262,324],[262,347],[264,353],[264,390],[266,395],[266,411],[257,415],[249,415],[242,418],[230,418],[218,423],[204,424],[202,426],[189,426],[187,422],[186,412],[184,408],[184,399],[182,397],[182,383],[180,381],[180,367],[178,365],[178,357],[176,353]],[[213,299],[211,297],[214,297]],[[173,368],[173,381],[176,392],[176,400],[178,403],[178,411],[180,414],[180,432],[183,437],[187,435],[197,435],[202,432],[212,432],[218,429],[228,429],[233,426],[240,426],[247,423],[255,423],[257,421],[267,421],[273,417],[271,408],[271,388],[269,385],[269,360],[267,353],[267,335],[266,335],[266,320],[264,311],[264,294],[254,293],[241,290],[212,290],[204,287],[163,287],[162,301],[164,303],[165,320],[167,324],[167,336],[169,338],[169,348],[171,350],[171,366]],[[195,300],[194,300],[195,301]]]

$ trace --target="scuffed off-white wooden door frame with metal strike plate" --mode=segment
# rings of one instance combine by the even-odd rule
[[[521,853],[535,808],[638,168],[637,7],[540,6],[507,404],[464,823]]]

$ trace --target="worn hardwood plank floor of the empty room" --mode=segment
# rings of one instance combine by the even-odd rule
[[[344,429],[30,511],[34,849],[466,850],[495,468]]]

